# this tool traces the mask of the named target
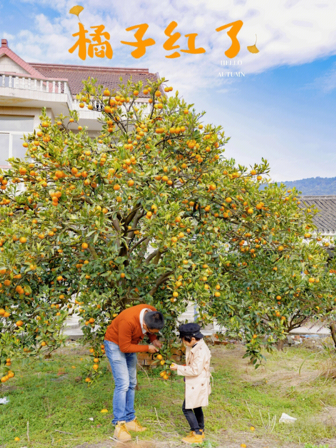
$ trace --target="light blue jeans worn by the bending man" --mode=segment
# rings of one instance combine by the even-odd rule
[[[123,353],[119,345],[109,340],[104,340],[104,347],[115,380],[112,423],[132,422],[135,419],[136,353]]]

